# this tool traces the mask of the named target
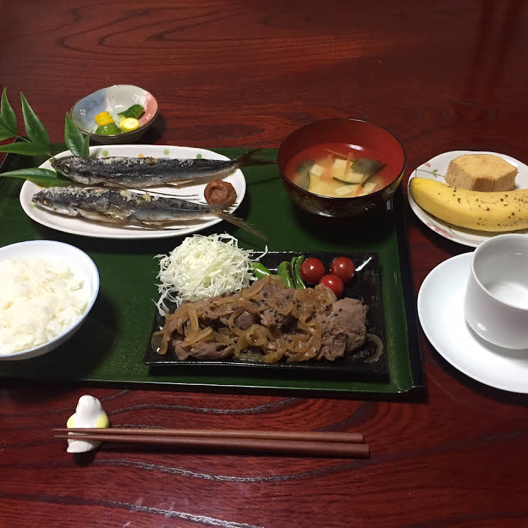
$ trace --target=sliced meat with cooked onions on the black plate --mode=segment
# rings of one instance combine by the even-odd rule
[[[334,361],[364,344],[367,307],[360,300],[337,300],[325,287],[261,281],[239,294],[181,305],[160,331],[169,349],[179,360]]]

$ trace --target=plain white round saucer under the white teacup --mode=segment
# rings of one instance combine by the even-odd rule
[[[432,346],[452,366],[483,384],[528,393],[528,349],[496,347],[477,336],[463,306],[472,253],[452,257],[428,274],[418,294],[418,316]]]

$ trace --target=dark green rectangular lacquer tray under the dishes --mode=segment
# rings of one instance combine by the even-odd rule
[[[238,148],[214,149],[229,157]],[[262,153],[276,159],[276,150]],[[5,158],[1,172],[34,166],[36,160],[16,155]],[[380,258],[382,305],[388,381],[364,382],[320,373],[276,369],[216,369],[214,366],[173,366],[153,369],[144,364],[157,298],[157,254],[166,254],[181,237],[152,240],[92,239],[65,234],[34,223],[19,203],[22,180],[0,178],[0,246],[34,239],[76,245],[87,252],[100,274],[100,292],[83,327],[63,347],[40,358],[1,361],[0,376],[58,382],[151,384],[237,390],[313,391],[321,395],[404,395],[423,389],[423,370],[412,294],[408,246],[401,195],[397,193],[382,214],[360,221],[313,217],[290,201],[276,165],[244,169],[248,192],[237,213],[267,234],[273,251],[357,253],[375,252]],[[202,234],[230,232],[242,248],[262,250],[251,234],[219,223]],[[0,277],[1,287],[1,277]]]

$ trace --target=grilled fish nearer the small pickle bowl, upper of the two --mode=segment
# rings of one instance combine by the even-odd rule
[[[259,150],[229,160],[67,156],[54,159],[52,166],[67,179],[80,184],[143,189],[189,180],[201,183],[227,176],[239,167],[273,163],[255,158]]]

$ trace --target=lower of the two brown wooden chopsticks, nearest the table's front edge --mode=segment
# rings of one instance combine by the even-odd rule
[[[108,430],[108,429],[107,429]],[[104,431],[104,429],[103,429]],[[75,440],[111,441],[124,443],[147,443],[156,445],[179,445],[186,448],[219,448],[234,451],[262,451],[294,455],[340,456],[369,458],[369,444],[351,442],[325,442],[303,440],[276,440],[262,438],[228,438],[171,436],[169,434],[107,434],[76,433],[56,434],[55,438]]]

